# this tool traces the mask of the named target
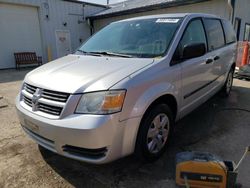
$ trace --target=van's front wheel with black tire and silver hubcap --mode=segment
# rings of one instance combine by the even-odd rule
[[[135,154],[143,161],[154,161],[166,150],[172,131],[173,114],[166,104],[157,104],[143,116]]]

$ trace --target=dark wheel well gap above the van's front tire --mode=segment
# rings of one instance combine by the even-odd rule
[[[150,106],[148,107],[148,109],[146,110],[146,113],[155,105],[157,104],[167,104],[169,106],[169,108],[171,109],[174,119],[176,118],[177,115],[177,101],[175,99],[175,97],[173,95],[167,94],[167,95],[163,95],[161,97],[159,97],[158,99],[156,99],[154,102],[152,102],[150,104]],[[146,114],[145,113],[145,114]]]

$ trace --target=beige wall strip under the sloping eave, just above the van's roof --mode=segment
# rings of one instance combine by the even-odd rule
[[[245,0],[245,1],[249,1],[249,0]],[[209,14],[215,14],[215,15],[221,16],[226,19],[230,18],[230,9],[229,9],[229,6],[227,5],[227,1],[226,0],[212,0],[212,1],[206,1],[206,2],[201,2],[201,3],[190,4],[190,5],[164,8],[160,10],[146,11],[146,12],[141,12],[141,13],[122,15],[122,16],[110,17],[110,18],[105,18],[105,19],[97,19],[94,21],[94,29],[95,31],[98,31],[111,22],[126,19],[126,18],[136,17],[136,16],[167,14],[167,13],[186,13],[186,12],[209,13]]]

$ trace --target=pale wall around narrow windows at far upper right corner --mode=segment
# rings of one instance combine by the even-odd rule
[[[243,41],[246,23],[250,24],[250,1],[249,0],[236,0],[235,3],[235,18],[241,19],[239,40]],[[235,22],[235,20],[234,20]]]

